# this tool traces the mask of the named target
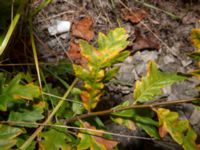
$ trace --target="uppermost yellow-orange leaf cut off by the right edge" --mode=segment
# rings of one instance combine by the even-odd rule
[[[192,29],[192,43],[199,51],[200,50],[200,28]]]

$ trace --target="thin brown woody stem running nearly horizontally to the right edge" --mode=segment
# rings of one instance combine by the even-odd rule
[[[188,100],[171,100],[171,101],[167,101],[167,102],[143,104],[143,105],[130,105],[130,106],[126,106],[126,107],[119,108],[119,109],[107,109],[107,110],[103,110],[103,111],[90,112],[88,114],[83,114],[80,116],[75,116],[73,118],[67,119],[65,122],[71,123],[71,122],[74,122],[79,119],[84,119],[84,118],[88,118],[88,117],[92,117],[92,116],[102,116],[102,115],[119,112],[119,111],[123,111],[123,110],[128,110],[128,109],[153,108],[153,107],[158,107],[158,106],[162,106],[162,105],[189,103],[189,102],[197,101],[197,100],[200,100],[200,98],[194,98],[194,99],[188,99]]]

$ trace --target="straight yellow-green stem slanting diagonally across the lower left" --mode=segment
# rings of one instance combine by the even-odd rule
[[[73,87],[74,87],[74,85],[76,84],[77,81],[78,81],[78,78],[76,78],[73,81],[73,83],[70,85],[68,90],[63,95],[62,100],[56,105],[56,107],[53,109],[51,114],[48,116],[48,118],[42,124],[47,124],[52,119],[52,117],[55,115],[55,113],[62,106],[65,99],[68,97],[69,93],[71,92],[71,90],[73,89]],[[25,150],[31,144],[31,142],[34,140],[34,138],[42,131],[43,128],[44,128],[44,126],[42,126],[42,125],[39,128],[37,128],[35,130],[35,132],[24,142],[24,144],[19,149]]]

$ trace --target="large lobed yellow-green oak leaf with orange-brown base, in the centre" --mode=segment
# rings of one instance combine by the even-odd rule
[[[104,83],[118,72],[115,63],[124,61],[130,52],[123,51],[127,45],[128,35],[123,28],[117,28],[104,35],[98,35],[98,49],[81,40],[81,55],[86,59],[85,65],[73,64],[75,75],[83,80],[81,99],[87,111],[92,111],[103,94]],[[122,52],[123,51],[123,52]]]

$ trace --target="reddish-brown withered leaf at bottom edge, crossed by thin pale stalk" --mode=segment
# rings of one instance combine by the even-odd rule
[[[83,124],[84,124],[85,128],[97,130],[94,126],[91,126],[88,122],[84,122]],[[98,131],[102,131],[103,132],[103,130],[98,130]],[[114,140],[108,140],[108,139],[103,138],[102,137],[103,133],[93,132],[92,134],[96,135],[96,136],[93,136],[93,138],[98,143],[104,145],[107,150],[112,150],[118,144],[118,142],[116,142]]]

